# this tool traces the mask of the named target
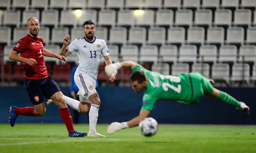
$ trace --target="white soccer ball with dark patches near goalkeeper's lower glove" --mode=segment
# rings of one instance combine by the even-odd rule
[[[158,130],[158,124],[152,117],[147,117],[140,121],[139,130],[142,135],[152,136],[155,135]]]

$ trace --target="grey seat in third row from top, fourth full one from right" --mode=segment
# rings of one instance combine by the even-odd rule
[[[185,43],[185,28],[184,27],[170,27],[168,29],[166,43]]]

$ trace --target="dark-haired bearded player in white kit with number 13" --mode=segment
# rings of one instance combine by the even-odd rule
[[[68,55],[77,52],[79,63],[74,80],[79,88],[77,95],[79,96],[80,102],[70,98],[69,100],[66,100],[66,103],[73,109],[76,109],[79,113],[87,113],[90,110],[90,131],[88,136],[104,136],[96,131],[100,97],[95,90],[95,82],[101,56],[104,57],[107,65],[112,64],[112,61],[109,57],[109,51],[105,40],[95,37],[95,30],[95,24],[90,19],[85,21],[83,24],[83,32],[85,33],[85,36],[72,41],[69,46],[70,36],[67,35],[64,37],[64,44],[60,49],[60,55],[67,57]],[[115,77],[109,77],[109,80],[114,82],[116,79]],[[51,100],[47,102],[47,105],[50,103]]]

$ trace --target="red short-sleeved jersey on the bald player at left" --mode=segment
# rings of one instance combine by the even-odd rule
[[[49,76],[44,64],[44,46],[42,37],[31,37],[26,35],[21,38],[17,45],[12,49],[20,53],[23,58],[33,58],[36,65],[28,65],[23,62],[26,79],[43,79]]]

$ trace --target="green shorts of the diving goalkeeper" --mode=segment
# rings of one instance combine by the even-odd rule
[[[189,73],[189,82],[191,84],[192,93],[189,101],[179,101],[183,104],[195,104],[204,95],[210,95],[212,93],[212,84],[200,73]]]

